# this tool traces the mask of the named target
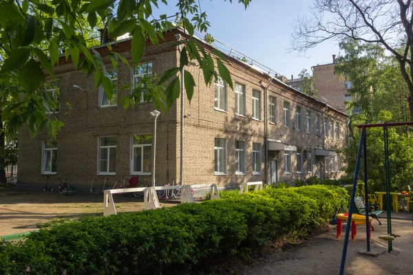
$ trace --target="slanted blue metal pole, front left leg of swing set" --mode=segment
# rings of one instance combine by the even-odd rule
[[[344,266],[346,265],[347,256],[347,246],[348,246],[348,236],[350,235],[350,226],[352,218],[352,209],[354,204],[354,196],[356,195],[357,189],[357,177],[359,176],[360,162],[361,162],[361,149],[363,148],[364,138],[366,137],[366,128],[363,128],[360,136],[359,153],[357,153],[356,170],[354,172],[353,186],[350,196],[350,207],[348,209],[348,221],[346,226],[346,237],[344,238],[343,254],[341,254],[341,265],[340,265],[340,275],[344,274]]]

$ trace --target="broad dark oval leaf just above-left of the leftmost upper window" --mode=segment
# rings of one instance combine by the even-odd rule
[[[31,92],[39,89],[41,83],[45,82],[45,74],[43,74],[39,63],[34,61],[34,59],[30,59],[21,69],[19,81],[22,83],[25,91]]]

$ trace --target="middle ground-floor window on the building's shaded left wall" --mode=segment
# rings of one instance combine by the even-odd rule
[[[98,143],[98,174],[115,174],[116,137],[99,137]]]

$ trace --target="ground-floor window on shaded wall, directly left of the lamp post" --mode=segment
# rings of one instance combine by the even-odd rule
[[[131,174],[150,175],[152,171],[152,135],[134,135],[131,146]]]

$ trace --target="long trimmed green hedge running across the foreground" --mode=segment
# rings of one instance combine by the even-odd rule
[[[268,188],[170,208],[85,217],[0,243],[0,274],[186,274],[305,237],[347,201],[336,186]],[[342,205],[341,205],[342,206]]]

